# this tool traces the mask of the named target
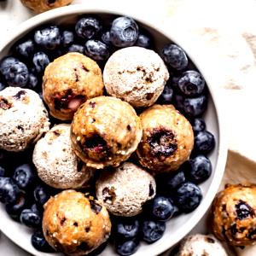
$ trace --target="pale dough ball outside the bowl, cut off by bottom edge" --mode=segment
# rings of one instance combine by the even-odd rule
[[[176,256],[228,256],[223,245],[212,235],[191,235],[182,242]]]

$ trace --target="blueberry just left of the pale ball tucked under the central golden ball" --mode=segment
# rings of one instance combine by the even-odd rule
[[[18,166],[15,169],[13,179],[20,189],[29,188],[35,180],[32,166],[28,164]]]

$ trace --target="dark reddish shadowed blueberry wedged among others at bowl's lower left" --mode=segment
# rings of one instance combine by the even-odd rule
[[[9,204],[6,204],[5,210],[9,216],[16,221],[20,221],[20,213],[26,207],[26,197],[25,194],[20,193],[17,199]]]

